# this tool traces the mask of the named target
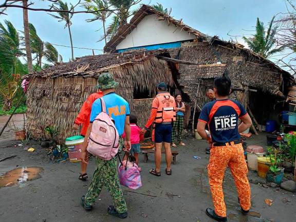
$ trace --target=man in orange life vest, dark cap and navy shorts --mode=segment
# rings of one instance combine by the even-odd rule
[[[152,102],[151,115],[141,133],[146,133],[149,127],[155,124],[155,169],[149,172],[155,176],[160,176],[161,163],[161,147],[162,142],[165,149],[165,160],[167,161],[167,169],[165,173],[172,175],[171,162],[171,142],[172,142],[172,124],[176,121],[176,102],[175,98],[168,93],[167,84],[161,82],[157,85],[158,94]]]

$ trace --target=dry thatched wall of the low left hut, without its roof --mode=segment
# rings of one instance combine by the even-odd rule
[[[167,62],[156,57],[145,57],[136,63],[124,63],[104,69],[114,74],[116,81],[119,82],[116,92],[130,103],[131,110],[137,115],[140,125],[143,125],[149,117],[152,101],[151,99],[133,101],[134,89],[149,90],[150,94],[154,95],[159,82],[173,86],[173,77]],[[96,75],[90,78],[90,72]],[[37,139],[44,137],[46,126],[54,125],[60,130],[60,140],[64,140],[68,136],[79,134],[72,130],[72,124],[83,102],[96,91],[99,73],[87,69],[83,74],[79,73],[79,77],[77,75],[69,78],[66,77],[73,75],[72,72],[57,78],[50,78],[57,76],[53,68],[49,73],[46,71],[42,73],[42,77],[47,76],[47,78],[35,76],[28,89],[28,131]]]

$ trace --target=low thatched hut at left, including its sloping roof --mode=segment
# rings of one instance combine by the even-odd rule
[[[113,73],[119,87],[117,93],[124,97],[143,125],[150,113],[156,85],[167,82],[174,90],[175,84],[168,62],[157,55],[175,50],[137,50],[133,52],[102,54],[78,58],[36,73],[27,92],[27,128],[33,138],[44,135],[44,128],[54,125],[60,139],[75,135],[72,124],[85,99],[96,91],[97,77],[108,70]]]

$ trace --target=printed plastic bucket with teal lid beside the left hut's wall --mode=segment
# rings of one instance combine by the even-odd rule
[[[66,138],[66,146],[68,147],[68,155],[70,162],[81,161],[81,148],[84,141],[83,136],[72,136]]]

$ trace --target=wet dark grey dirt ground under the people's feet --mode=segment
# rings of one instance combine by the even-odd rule
[[[248,139],[251,144],[265,146],[266,135]],[[193,138],[184,140],[186,147],[178,147],[177,164],[173,165],[173,175],[164,173],[155,177],[148,173],[154,167],[153,156],[142,167],[143,186],[132,193],[123,188],[128,206],[128,218],[125,221],[213,221],[205,214],[207,207],[213,207],[207,178],[206,166],[209,155],[205,154],[207,144]],[[101,193],[101,200],[96,201],[94,210],[86,212],[80,205],[80,197],[87,191],[87,186],[94,172],[94,158],[90,161],[90,178],[78,180],[79,163],[56,163],[46,157],[47,151],[31,141],[26,147],[14,146],[15,141],[0,144],[0,159],[17,155],[13,159],[0,162],[0,175],[18,167],[42,167],[41,177],[12,187],[0,188],[0,221],[5,222],[58,222],[58,221],[120,221],[107,214],[107,206],[112,200],[106,190]],[[24,149],[35,147],[28,153]],[[199,156],[201,159],[195,159]],[[258,182],[256,172],[250,172],[252,181],[252,209],[249,216],[242,216],[237,203],[234,181],[227,170],[224,182],[224,194],[227,205],[228,221],[296,221],[295,194],[279,188],[264,188]],[[147,195],[144,195],[147,194]],[[149,196],[150,195],[150,196]],[[273,200],[269,207],[264,199]]]

